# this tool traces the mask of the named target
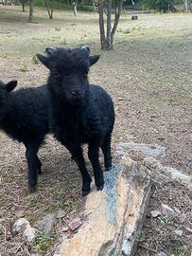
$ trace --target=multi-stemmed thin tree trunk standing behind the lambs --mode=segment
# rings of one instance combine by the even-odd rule
[[[98,12],[99,12],[99,30],[100,30],[100,45],[103,50],[113,49],[113,38],[118,26],[121,10],[123,6],[123,0],[117,0],[115,4],[114,21],[112,25],[112,0],[107,0],[107,24],[105,33],[104,23],[104,5],[103,0],[98,1]]]

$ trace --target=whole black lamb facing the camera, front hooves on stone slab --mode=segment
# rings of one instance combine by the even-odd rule
[[[89,48],[47,48],[48,56],[38,59],[50,69],[47,85],[50,92],[50,130],[75,159],[82,175],[82,195],[90,192],[91,177],[87,172],[81,145],[88,143],[88,156],[93,165],[97,190],[104,187],[99,163],[99,148],[105,169],[112,167],[111,136],[113,101],[97,85],[90,85],[88,72],[99,56],[90,56]]]

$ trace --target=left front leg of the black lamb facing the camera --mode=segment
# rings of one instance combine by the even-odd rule
[[[70,153],[72,154],[72,158],[76,161],[80,174],[82,176],[82,196],[87,195],[91,191],[91,182],[92,178],[90,177],[90,174],[88,174],[84,157],[82,155],[82,149],[79,148],[69,148]]]

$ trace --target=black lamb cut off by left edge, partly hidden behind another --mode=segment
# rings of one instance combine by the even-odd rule
[[[28,185],[35,190],[42,163],[38,150],[48,133],[48,91],[45,85],[11,92],[17,81],[0,82],[0,129],[26,146]]]

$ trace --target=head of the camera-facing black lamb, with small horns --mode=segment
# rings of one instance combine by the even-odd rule
[[[89,87],[88,72],[99,56],[90,56],[88,46],[73,49],[45,49],[47,56],[38,54],[38,59],[50,70],[48,84],[61,101],[79,105]]]

